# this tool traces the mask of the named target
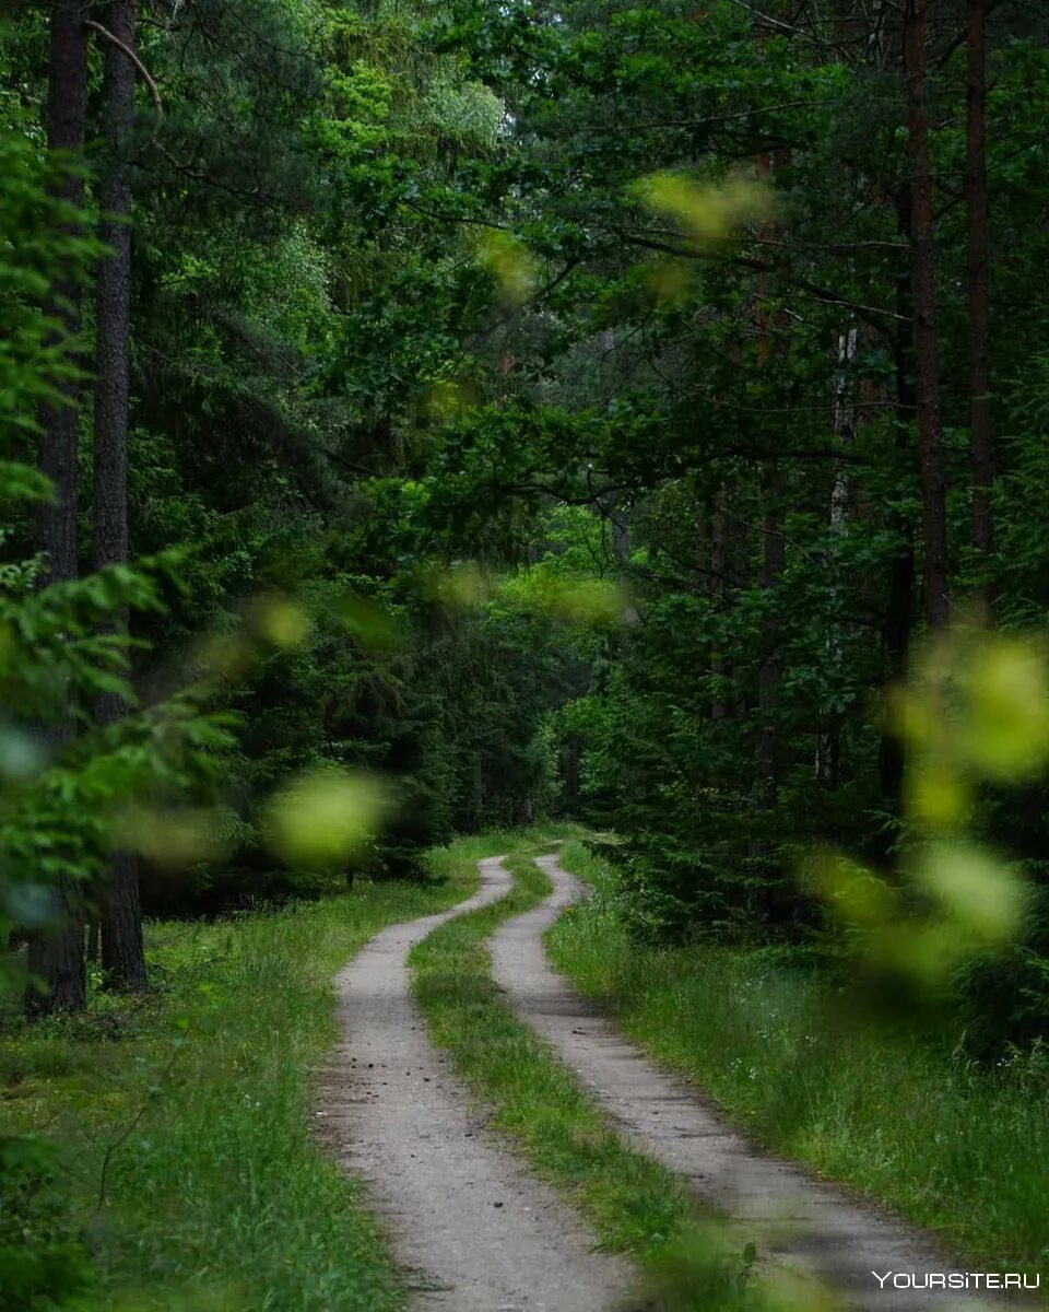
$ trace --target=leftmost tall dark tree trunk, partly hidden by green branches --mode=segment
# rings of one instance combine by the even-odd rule
[[[47,147],[77,156],[84,150],[88,104],[88,39],[83,0],[55,0],[51,10],[47,85]],[[67,174],[56,194],[77,209],[84,182]],[[69,337],[80,332],[81,291],[69,278],[58,278],[49,314]],[[76,579],[76,504],[80,441],[80,387],[67,380],[62,399],[41,413],[41,470],[51,479],[55,500],[41,509],[37,523],[41,551],[50,565],[51,583]],[[56,747],[68,739],[68,724],[51,733]],[[80,1012],[87,1005],[84,974],[84,909],[75,883],[62,876],[52,896],[55,933],[34,935],[29,946],[30,975],[45,992],[30,987],[25,1006],[31,1015]]]

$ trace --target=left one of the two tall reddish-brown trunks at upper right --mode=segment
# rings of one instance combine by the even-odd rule
[[[926,0],[905,0],[903,70],[907,87],[910,237],[914,283],[914,357],[918,383],[918,455],[922,474],[926,619],[945,627],[951,609],[947,554],[947,466],[940,415],[932,167],[928,150]]]

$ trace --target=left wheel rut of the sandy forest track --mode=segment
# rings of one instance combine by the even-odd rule
[[[417,1305],[454,1312],[607,1312],[632,1282],[590,1252],[593,1236],[469,1110],[469,1094],[430,1043],[409,987],[409,951],[455,916],[504,897],[500,858],[451,911],[383,930],[340,972],[340,1044],[321,1081],[317,1136],[368,1203]]]

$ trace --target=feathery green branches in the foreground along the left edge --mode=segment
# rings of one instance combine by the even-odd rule
[[[38,429],[42,403],[79,373],[69,341],[45,308],[59,274],[85,281],[101,247],[75,235],[85,216],[54,198],[66,164],[41,161],[30,142],[0,135],[5,164],[0,214],[7,232],[26,239],[0,245],[0,387],[8,421],[4,447],[22,455]],[[71,228],[71,220],[77,224]],[[89,226],[88,226],[89,231]],[[20,551],[29,512],[55,489],[25,459],[0,464],[5,509],[0,565],[0,938],[13,928],[52,926],[51,890],[66,879],[84,890],[113,844],[119,807],[143,790],[184,787],[228,736],[199,694],[173,698],[92,728],[93,701],[118,695],[129,705],[129,642],[113,630],[126,610],[159,611],[177,556],[160,554],[135,568],[113,565],[69,583],[46,581],[42,562]],[[0,958],[0,989],[17,971]]]

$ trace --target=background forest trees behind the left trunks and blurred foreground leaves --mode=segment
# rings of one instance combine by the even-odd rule
[[[178,880],[156,834],[138,842],[147,905],[341,887],[275,870],[265,821],[282,781],[333,765],[395,781],[370,859],[396,872],[454,827],[534,813],[561,756],[573,799],[627,834],[652,932],[805,920],[791,871],[814,834],[893,859],[905,762],[877,690],[977,586],[1006,625],[1042,600],[1049,324],[1002,331],[1049,265],[1042,18],[993,0],[49,18],[51,135],[93,168],[62,186],[102,211],[109,253],[93,316],[50,270],[96,404],[71,374],[43,398],[39,596],[87,564],[77,409],[88,577],[127,598],[129,560],[190,548],[135,621],[140,706],[114,673],[130,601],[96,610],[88,665],[111,677],[89,702],[72,681],[52,760],[135,735],[142,760],[168,750],[168,722],[143,726],[182,676],[240,724],[220,769],[184,737],[169,774],[111,785],[140,829],[176,804],[208,817]],[[24,126],[39,16],[5,21],[31,89],[1,112]],[[132,131],[136,81],[164,114],[143,94]],[[999,425],[1019,436],[995,450]],[[492,581],[582,558],[629,589],[628,622],[585,642]],[[105,865],[104,966],[140,987],[114,846],[110,827],[67,854],[66,943],[73,962],[77,871]]]

